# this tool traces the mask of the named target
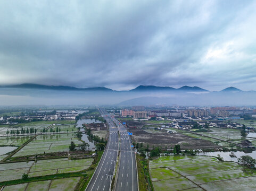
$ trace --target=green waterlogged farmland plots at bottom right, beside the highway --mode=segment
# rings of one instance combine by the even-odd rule
[[[154,190],[255,190],[256,170],[213,157],[168,156],[150,161]],[[228,186],[227,186],[228,185]]]

